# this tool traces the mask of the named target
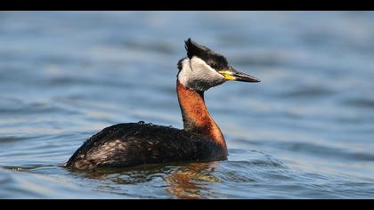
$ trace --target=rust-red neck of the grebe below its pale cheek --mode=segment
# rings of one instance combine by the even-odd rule
[[[204,101],[204,92],[196,92],[182,85],[176,80],[179,106],[181,107],[184,130],[207,135],[224,149],[227,155],[224,135],[215,121],[207,112]]]

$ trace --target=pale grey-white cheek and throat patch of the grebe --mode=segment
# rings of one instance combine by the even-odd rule
[[[205,61],[197,57],[184,59],[182,70],[178,75],[179,82],[193,90],[206,91],[212,86],[224,83],[224,76],[217,73]]]

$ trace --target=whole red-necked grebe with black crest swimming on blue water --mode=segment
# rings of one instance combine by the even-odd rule
[[[225,81],[260,82],[229,65],[226,58],[189,38],[178,61],[176,93],[183,129],[139,123],[111,125],[94,134],[65,164],[78,170],[174,161],[227,159],[224,134],[209,115],[204,92]]]

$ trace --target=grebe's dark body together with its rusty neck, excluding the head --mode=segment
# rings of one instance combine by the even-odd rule
[[[184,130],[162,125],[112,125],[93,135],[65,166],[79,170],[174,161],[226,159],[224,135],[207,112],[203,93],[177,82]]]

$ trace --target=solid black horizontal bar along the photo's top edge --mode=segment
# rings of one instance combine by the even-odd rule
[[[1,10],[370,10],[374,1],[355,0],[4,0]]]

